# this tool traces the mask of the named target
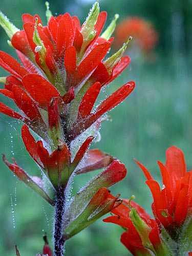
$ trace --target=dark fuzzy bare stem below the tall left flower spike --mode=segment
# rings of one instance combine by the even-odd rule
[[[54,255],[64,256],[65,240],[62,237],[64,225],[66,195],[65,188],[58,187],[55,204],[55,224],[54,224]]]

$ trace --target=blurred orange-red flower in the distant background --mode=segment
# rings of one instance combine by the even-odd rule
[[[140,17],[127,17],[117,26],[116,47],[129,35],[134,37],[137,47],[143,52],[150,52],[158,41],[158,34],[153,26]]]

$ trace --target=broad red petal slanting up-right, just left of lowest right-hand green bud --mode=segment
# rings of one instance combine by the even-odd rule
[[[85,80],[94,69],[99,65],[100,61],[104,58],[111,44],[104,42],[103,44],[95,46],[95,48],[80,62],[77,68],[77,83]]]

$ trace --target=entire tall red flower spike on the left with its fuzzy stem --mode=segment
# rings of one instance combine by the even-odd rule
[[[24,122],[24,144],[43,177],[28,175],[15,160],[10,163],[5,156],[3,160],[20,180],[55,207],[58,247],[121,203],[118,197],[110,197],[108,187],[125,177],[125,166],[100,150],[88,149],[105,119],[103,115],[123,101],[135,83],[127,82],[95,106],[101,89],[130,64],[130,57],[123,56],[130,38],[106,58],[115,23],[100,35],[106,12],[99,12],[98,2],[82,26],[76,16],[65,13],[55,17],[47,7],[46,26],[38,15],[23,14],[22,30],[0,13],[0,25],[20,60],[0,51],[0,66],[10,73],[1,78],[5,86],[0,93],[19,109],[1,102],[0,112]],[[38,141],[29,129],[38,135]],[[69,200],[73,176],[102,167],[106,169]],[[55,254],[62,255],[61,249],[55,248]]]

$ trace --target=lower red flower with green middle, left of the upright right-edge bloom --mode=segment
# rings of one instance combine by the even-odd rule
[[[121,243],[133,255],[151,255],[151,251],[155,254],[165,252],[165,245],[160,237],[161,230],[141,206],[133,201],[123,200],[112,213],[113,216],[103,221],[118,224],[126,230],[121,235]]]

